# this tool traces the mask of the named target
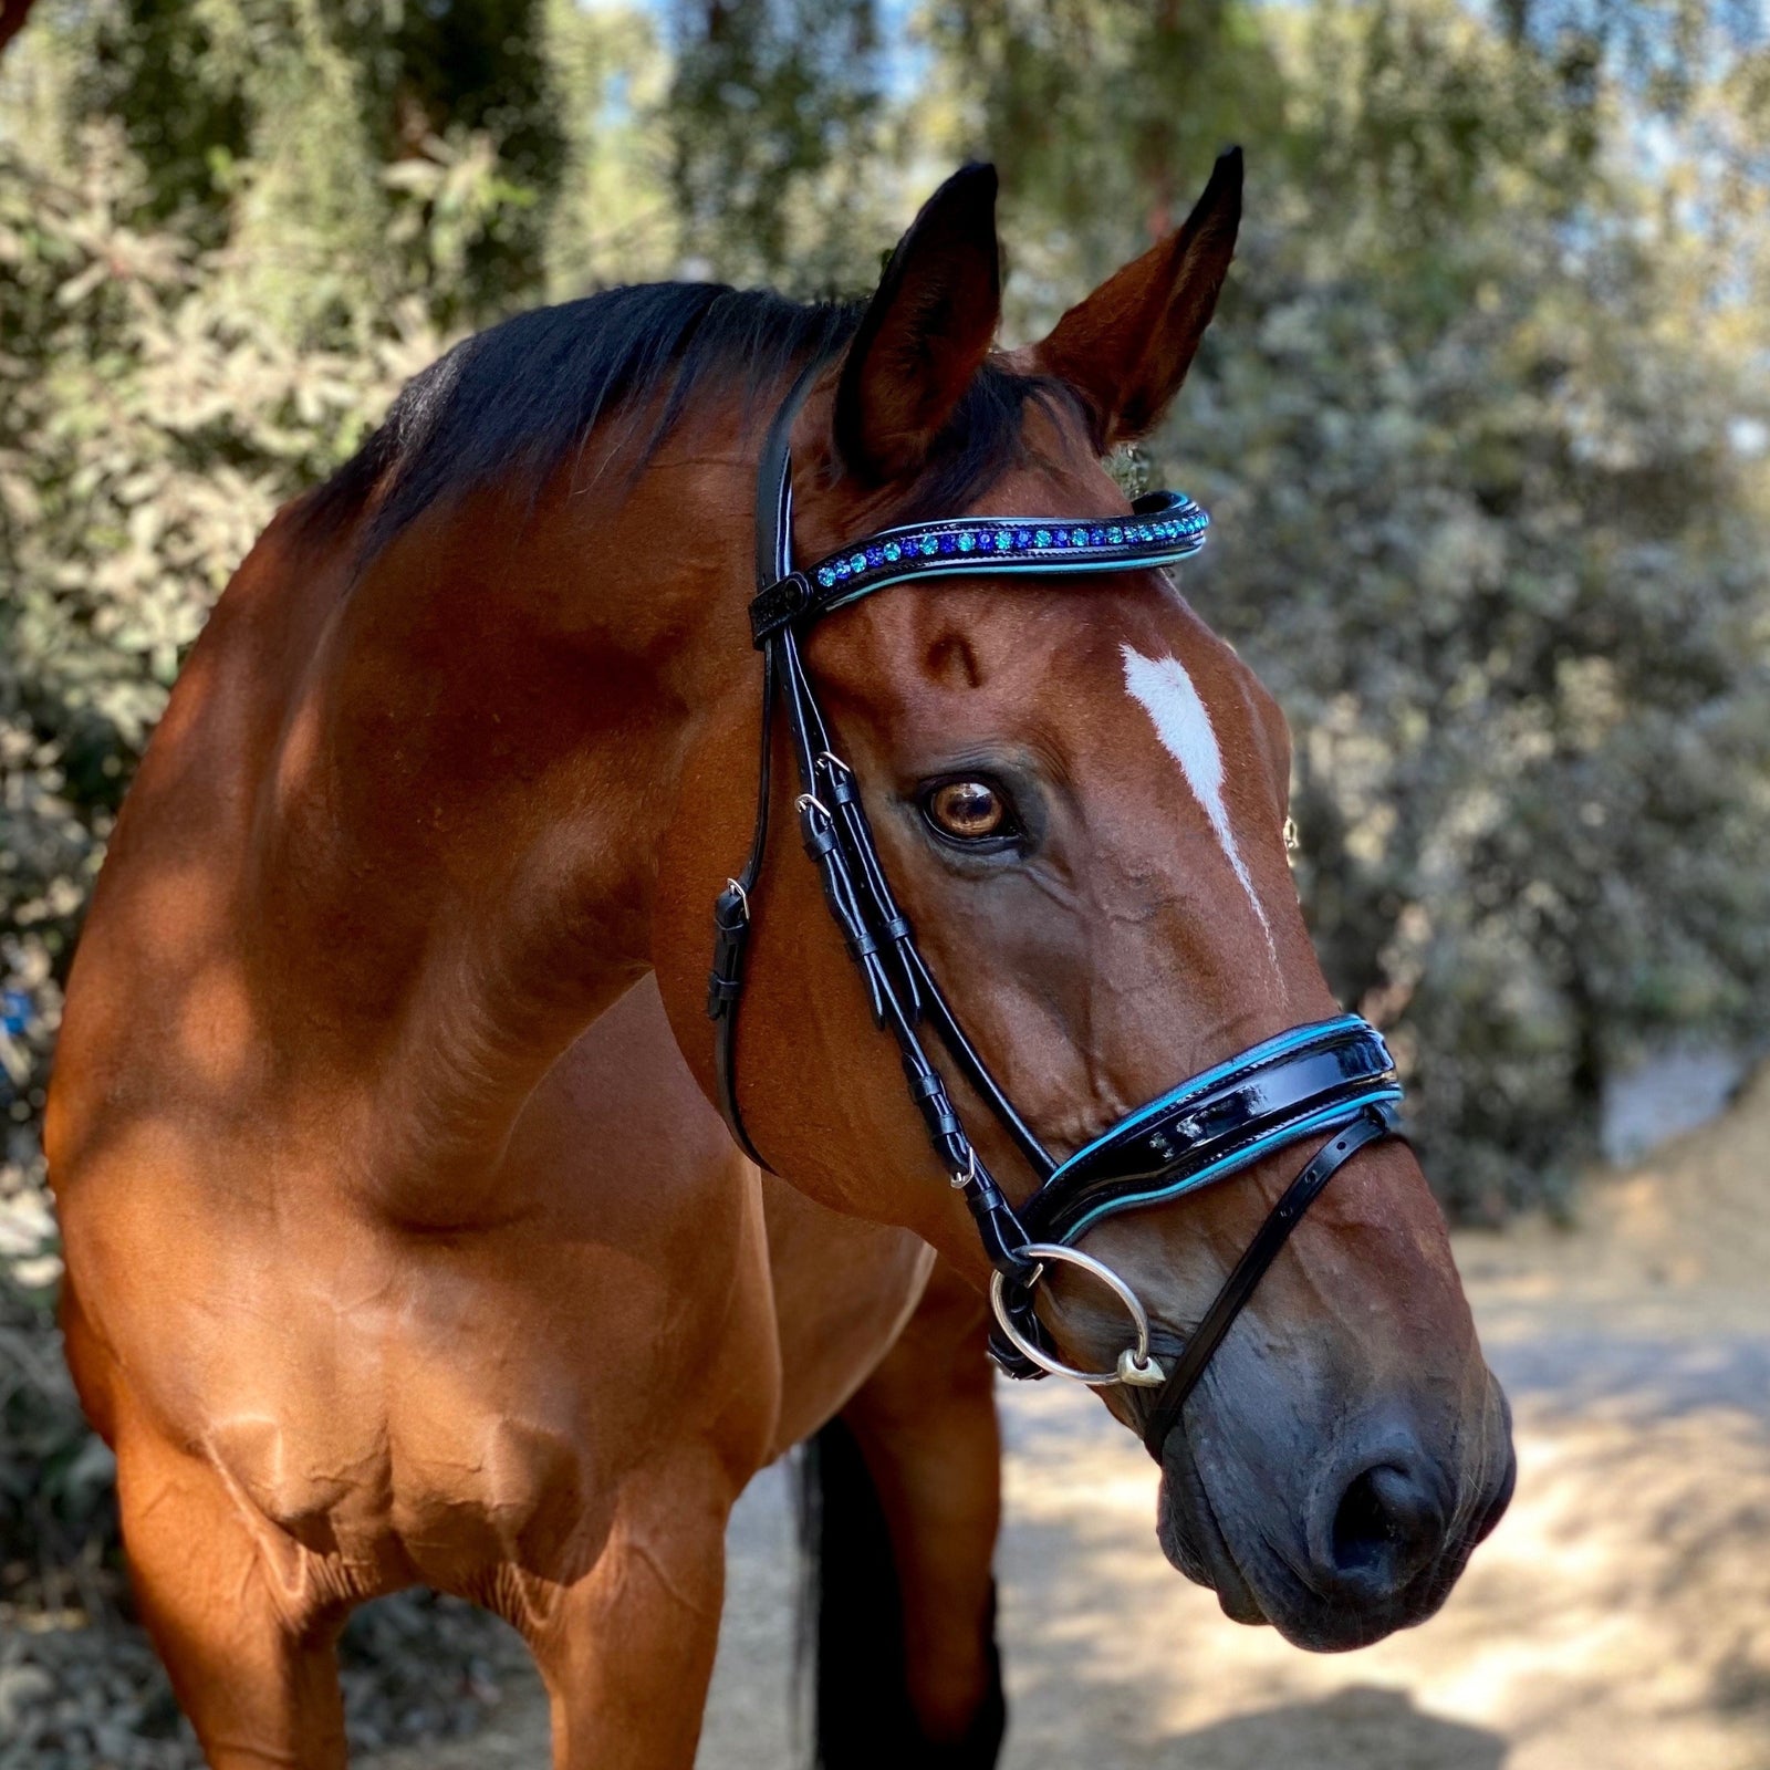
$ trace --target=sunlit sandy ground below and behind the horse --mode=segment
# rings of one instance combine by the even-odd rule
[[[1444,1611],[1315,1658],[1154,1542],[1156,1471],[1089,1395],[1004,1386],[1004,1770],[1770,1770],[1770,1083],[1602,1182],[1588,1227],[1462,1237],[1519,1497]],[[731,1526],[701,1770],[781,1770],[786,1480]],[[377,1770],[547,1763],[538,1690]]]

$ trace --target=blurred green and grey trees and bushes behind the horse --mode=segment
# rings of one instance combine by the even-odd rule
[[[1609,1076],[1770,1012],[1754,0],[41,0],[0,64],[0,1584],[74,1579],[108,1504],[42,1338],[60,982],[271,510],[515,308],[862,290],[965,156],[1035,336],[1227,140],[1246,244],[1147,466],[1216,517],[1188,586],[1290,713],[1304,901],[1428,1172],[1554,1205]]]

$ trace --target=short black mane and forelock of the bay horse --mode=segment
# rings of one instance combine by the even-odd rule
[[[386,487],[361,538],[366,558],[423,512],[497,476],[517,476],[538,492],[584,451],[598,425],[666,393],[650,430],[611,439],[591,469],[620,457],[637,473],[704,382],[736,382],[754,411],[763,395],[784,389],[798,365],[834,358],[864,306],[798,303],[724,283],[635,283],[519,313],[412,377],[381,428],[304,501],[297,520],[306,533],[333,533]],[[896,520],[965,510],[1025,457],[1021,409],[1055,388],[986,368]]]

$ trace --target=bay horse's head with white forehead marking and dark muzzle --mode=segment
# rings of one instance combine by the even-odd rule
[[[841,549],[855,536],[947,520],[959,524],[954,545],[975,549],[936,561],[938,582],[848,596],[851,605],[804,630],[782,667],[816,683],[827,726],[807,742],[827,738],[839,752],[927,974],[1030,1127],[1016,1138],[977,1076],[947,1066],[954,1122],[974,1142],[949,1136],[945,1147],[981,1154],[1004,1221],[1039,1209],[1048,1174],[1028,1147],[1048,1145],[1058,1163],[1089,1150],[1092,1161],[1103,1133],[1147,1124],[1154,1108],[1138,1119],[1142,1103],[1195,1099],[1174,1092],[1186,1078],[1234,1080],[1250,1057],[1255,1069],[1290,1062],[1296,1028],[1304,1043],[1338,1037],[1320,1032],[1338,1007],[1289,866],[1285,719],[1168,566],[1103,540],[1136,522],[1103,455],[1147,434],[1179,391],[1239,214],[1241,161],[1230,154],[1170,239],[1043,343],[998,352],[995,173],[966,168],[924,207],[846,347],[812,365],[782,423],[788,552],[832,558],[830,584],[846,575]],[[1055,522],[1066,543],[1080,536],[1076,559],[1087,554],[1096,568],[1009,572],[1000,561],[1016,540],[997,543],[989,524],[1027,513]],[[869,558],[864,547],[853,554],[857,579]],[[793,589],[818,595],[804,579]],[[809,750],[800,761],[800,786],[814,788],[821,765]],[[777,818],[793,798],[789,765],[777,726]],[[708,791],[742,798],[754,763],[727,745],[697,779],[703,805]],[[701,821],[694,805],[687,796],[690,828]],[[816,791],[798,809],[814,853],[820,832],[837,843],[839,814]],[[729,816],[706,821],[729,832]],[[729,848],[715,855],[692,835],[678,846],[692,850],[696,890],[731,871]],[[942,1172],[938,1135],[931,1154],[924,1131],[935,1120],[906,1103],[892,1041],[855,986],[857,940],[889,945],[883,924],[871,935],[850,927],[844,954],[818,901],[820,869],[791,846],[763,844],[736,904],[754,940],[733,1117],[804,1191],[915,1228],[988,1283],[979,1200],[947,1184],[966,1175]],[[658,963],[678,1037],[712,1085],[701,977],[680,959]],[[887,959],[871,963],[885,975]],[[876,995],[874,982],[878,1012]],[[1359,1044],[1372,1048],[1381,1051],[1374,1034]],[[1340,1158],[1195,1374],[1179,1427],[1152,1441],[1159,1538],[1174,1565],[1214,1586],[1230,1616],[1271,1621],[1320,1650],[1430,1614],[1512,1487],[1506,1404],[1420,1165],[1386,1135],[1382,1101],[1395,1090],[1377,1083],[1393,1076],[1363,1083],[1381,1101],[1363,1108],[1379,1117],[1361,1147]],[[922,1096],[931,1089],[924,1076]],[[1221,1184],[1158,1186],[1136,1209],[1073,1211],[1069,1244],[1122,1283],[1041,1267],[1028,1326],[1050,1361],[1110,1374],[1129,1294],[1150,1320],[1149,1358],[1172,1366],[1274,1200],[1345,1113],[1313,1135],[1296,1129],[1308,1122],[1294,1119],[1271,1154],[1244,1147]],[[1147,1432],[1147,1386],[1104,1381],[1099,1393]]]

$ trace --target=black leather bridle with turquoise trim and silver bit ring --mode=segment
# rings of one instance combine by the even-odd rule
[[[1044,577],[1172,565],[1198,552],[1209,519],[1184,494],[1149,492],[1129,513],[1113,519],[965,517],[881,529],[795,570],[788,435],[816,366],[800,375],[775,412],[758,471],[750,634],[763,655],[761,766],[749,860],[713,904],[706,1012],[713,1021],[719,1108],[743,1152],[766,1168],[738,1112],[735,1034],[743,950],[768,850],[779,703],[798,772],[795,805],[805,853],[818,867],[825,904],[860,970],[873,1021],[897,1046],[910,1099],[952,1186],[965,1195],[993,1267],[991,1358],[1012,1377],[1050,1372],[1096,1388],[1127,1384],[1133,1391],[1156,1391],[1140,1412],[1143,1443],[1159,1462],[1188,1395],[1310,1202],[1358,1150],[1400,1135],[1402,1089],[1395,1066],[1377,1030],[1356,1014],[1296,1027],[1179,1083],[1066,1161],[1051,1158],[966,1039],[892,897],[855,773],[835,752],[812,692],[802,641],[835,609],[912,579]],[[922,1046],[924,1025],[933,1027],[947,1057],[1037,1175],[1037,1189],[1018,1209],[966,1136]],[[1329,1142],[1285,1189],[1172,1368],[1165,1366],[1150,1351],[1149,1315],[1138,1296],[1112,1267],[1076,1248],[1076,1241],[1108,1216],[1179,1198],[1324,1133],[1331,1133]],[[1034,1303],[1039,1280],[1053,1264],[1089,1273],[1131,1317],[1135,1342],[1119,1354],[1113,1370],[1074,1370],[1051,1352]]]

